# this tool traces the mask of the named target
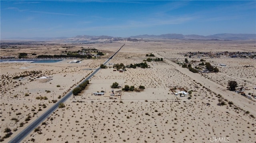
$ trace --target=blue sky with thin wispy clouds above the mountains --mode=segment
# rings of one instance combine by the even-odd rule
[[[256,33],[256,1],[0,1],[1,39]]]

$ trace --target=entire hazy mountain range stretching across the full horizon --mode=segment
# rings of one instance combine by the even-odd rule
[[[137,38],[137,39],[136,39]],[[138,41],[138,39],[196,39],[196,40],[256,40],[256,34],[230,34],[222,33],[215,35],[182,35],[182,34],[162,34],[162,35],[136,35],[130,37],[112,37],[107,35],[101,36],[90,36],[90,35],[77,35],[75,37],[32,37],[32,38],[22,38],[14,37],[1,40],[36,40],[36,41],[52,41],[52,40],[64,40],[64,41],[97,41],[97,40],[107,40],[107,41]]]

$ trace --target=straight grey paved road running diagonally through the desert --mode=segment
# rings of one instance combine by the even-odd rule
[[[125,45],[125,44],[124,44]],[[124,45],[122,45],[122,47],[124,47]],[[108,58],[103,65],[106,65],[121,49],[122,47],[120,47],[120,49],[118,49],[118,51],[116,51],[116,53],[114,53],[114,55],[112,55],[110,58]],[[92,76],[94,76],[94,74],[96,74],[98,71],[100,70],[100,67],[98,67],[94,72],[92,72],[92,74],[90,74],[87,78],[85,78],[85,80],[83,82],[85,82],[86,80],[89,80]],[[82,83],[83,83],[82,82]],[[79,86],[79,85],[78,85]],[[78,87],[76,86],[76,87]],[[75,87],[75,88],[76,88]],[[58,102],[56,102],[51,108],[49,108],[46,112],[44,112],[44,114],[42,114],[40,117],[38,117],[35,121],[33,121],[30,125],[28,125],[28,127],[26,127],[23,131],[21,131],[18,135],[16,135],[13,139],[11,139],[9,141],[9,143],[18,143],[20,141],[22,141],[22,139],[24,139],[24,137],[26,137],[31,131],[34,130],[34,128],[36,128],[38,125],[40,125],[40,123],[42,121],[44,121],[44,119],[46,119],[48,116],[50,116],[50,114],[52,114],[52,112],[54,112],[60,103],[65,102],[70,96],[72,95],[72,90],[70,92],[68,92],[68,94],[66,94],[63,98],[61,98]]]

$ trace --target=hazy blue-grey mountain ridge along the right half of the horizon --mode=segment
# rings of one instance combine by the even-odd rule
[[[182,34],[162,34],[162,35],[137,35],[130,38],[157,38],[157,39],[219,39],[219,40],[249,40],[256,39],[256,34],[215,34],[215,35],[182,35]]]

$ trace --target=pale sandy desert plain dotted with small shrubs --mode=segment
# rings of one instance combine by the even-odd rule
[[[104,53],[100,58],[66,58],[57,63],[1,61],[1,142],[18,135],[122,45],[107,68],[90,78],[85,90],[68,98],[65,107],[54,111],[22,142],[256,143],[255,41],[178,39],[90,44],[1,41],[1,57],[28,53],[27,59],[35,59],[83,48]],[[146,57],[150,53],[155,57]],[[230,57],[230,53],[244,53],[245,57]],[[148,58],[153,60],[145,61]],[[182,68],[186,59],[193,68],[200,67],[203,59],[219,72],[193,73]],[[74,60],[81,62],[70,63]],[[113,68],[144,62],[148,68]],[[13,79],[24,74],[27,76]],[[246,96],[228,90],[228,81],[236,81],[236,89]],[[114,82],[120,87],[111,88]],[[126,85],[137,91],[122,90]],[[139,90],[140,86],[145,89]],[[175,94],[181,90],[190,94]],[[94,95],[96,92],[104,95]],[[9,133],[12,135],[7,137]]]

